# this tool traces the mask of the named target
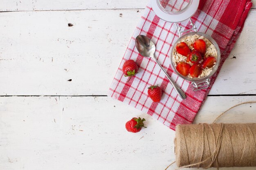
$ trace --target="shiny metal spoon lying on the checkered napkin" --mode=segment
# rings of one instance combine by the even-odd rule
[[[173,82],[171,77],[166,73],[164,68],[157,62],[157,59],[154,57],[155,53],[155,44],[145,35],[138,35],[135,40],[136,48],[139,51],[139,53],[144,57],[151,57],[155,60],[155,62],[160,66],[162,71],[164,71],[165,75],[167,76],[168,80],[173,85],[173,88],[177,92],[177,94],[182,98],[186,99],[185,93]]]

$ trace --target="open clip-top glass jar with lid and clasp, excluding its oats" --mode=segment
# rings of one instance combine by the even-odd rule
[[[198,32],[197,28],[195,27],[195,24],[191,20],[191,16],[198,9],[199,0],[173,0],[173,1],[172,0],[151,0],[151,5],[153,8],[153,11],[159,18],[167,22],[175,23],[176,25],[179,38],[173,44],[171,49],[171,54],[170,54],[171,66],[173,68],[173,71],[183,79],[190,81],[191,88],[193,89],[193,91],[198,91],[204,88],[208,88],[210,85],[210,77],[217,71],[218,66],[220,64],[220,49],[216,41],[213,40],[211,36],[202,32]],[[180,23],[184,20],[190,21],[191,29],[186,29],[182,31],[182,27],[177,23]],[[186,32],[189,32],[189,33],[186,33]],[[188,76],[185,77],[181,75],[175,67],[175,61],[173,61],[173,52],[175,50],[175,47],[178,44],[178,42],[180,42],[180,40],[182,40],[183,38],[186,38],[189,35],[203,36],[207,38],[211,42],[211,44],[213,44],[213,46],[216,48],[216,51],[217,51],[216,64],[214,68],[211,70],[210,74],[205,77],[201,77],[201,78],[191,78]]]

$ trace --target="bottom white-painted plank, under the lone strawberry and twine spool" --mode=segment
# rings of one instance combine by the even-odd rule
[[[208,97],[195,123],[211,123],[245,101],[256,96]],[[255,107],[239,106],[222,120],[256,122]],[[146,118],[147,128],[127,132],[126,121],[136,116]],[[174,137],[173,130],[110,97],[0,97],[4,170],[164,170],[175,159]]]

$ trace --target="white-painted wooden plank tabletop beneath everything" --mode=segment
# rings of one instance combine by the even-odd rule
[[[173,130],[106,96],[147,1],[0,1],[1,170],[164,170],[175,160]],[[195,123],[256,100],[253,1]],[[222,119],[256,122],[255,108]],[[135,116],[148,128],[128,133]]]

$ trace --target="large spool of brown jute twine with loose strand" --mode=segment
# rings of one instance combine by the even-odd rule
[[[244,102],[228,110],[252,103],[256,102]],[[220,114],[213,123],[228,110]],[[180,168],[256,166],[254,123],[178,125],[174,142],[176,163]],[[175,161],[169,166],[173,163]]]

